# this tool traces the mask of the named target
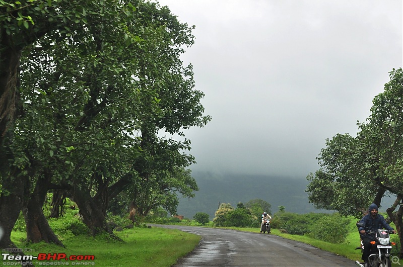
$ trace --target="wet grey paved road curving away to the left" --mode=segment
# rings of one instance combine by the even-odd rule
[[[199,245],[175,267],[190,266],[357,266],[353,260],[272,234],[154,225],[201,235]]]

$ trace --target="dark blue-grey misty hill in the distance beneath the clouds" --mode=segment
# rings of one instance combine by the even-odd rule
[[[284,206],[286,211],[299,214],[327,212],[317,210],[308,202],[305,193],[306,179],[291,179],[266,175],[217,175],[192,172],[199,191],[193,199],[179,200],[177,212],[192,219],[197,212],[205,212],[213,220],[220,203],[230,203],[234,208],[238,202],[247,203],[252,199],[262,199],[272,205],[272,213]]]

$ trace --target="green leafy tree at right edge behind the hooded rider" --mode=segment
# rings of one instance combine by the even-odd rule
[[[396,225],[402,242],[403,208],[394,212],[403,198],[401,169],[403,159],[403,71],[393,69],[384,92],[373,100],[371,115],[358,123],[357,137],[340,135],[326,140],[315,175],[308,175],[309,200],[318,207],[360,216],[371,202],[378,206],[385,194],[396,195],[387,213]],[[326,192],[329,199],[325,199]],[[403,250],[400,251],[403,256]]]

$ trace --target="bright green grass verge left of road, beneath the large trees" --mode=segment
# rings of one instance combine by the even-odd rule
[[[125,229],[115,234],[124,242],[116,241],[108,235],[90,237],[78,235],[65,239],[65,248],[48,244],[26,243],[26,234],[13,232],[12,241],[19,248],[31,250],[26,255],[37,256],[38,253],[65,253],[70,255],[94,255],[94,260],[58,260],[69,265],[96,265],[96,266],[171,266],[177,259],[194,249],[200,241],[200,236],[173,229],[164,228],[133,228]],[[52,262],[57,260],[50,260]],[[33,260],[37,265],[45,263]],[[64,264],[65,264],[64,263]]]

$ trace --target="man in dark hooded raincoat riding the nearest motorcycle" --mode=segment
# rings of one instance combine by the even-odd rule
[[[378,214],[378,206],[374,203],[369,206],[368,214],[361,218],[360,223],[364,224],[364,226],[368,227],[371,231],[385,228],[386,230],[393,231],[394,234],[396,233],[396,231],[387,224],[385,218]],[[362,253],[361,259],[364,260],[365,266],[368,266],[368,256],[371,250],[370,242],[374,240],[374,237],[366,235],[363,227],[359,227],[358,231],[360,232],[360,237],[364,244],[364,252]]]

